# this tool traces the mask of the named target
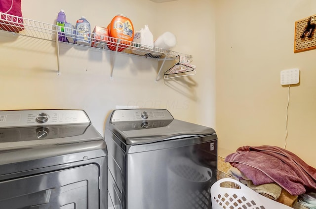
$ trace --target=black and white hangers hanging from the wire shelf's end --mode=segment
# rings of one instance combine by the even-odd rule
[[[179,62],[164,72],[164,79],[195,75],[197,73],[195,65],[189,64],[188,62],[190,61],[182,61],[179,55],[177,57],[179,57]]]

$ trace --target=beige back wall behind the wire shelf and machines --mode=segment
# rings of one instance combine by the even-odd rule
[[[215,12],[213,0],[22,0],[23,16],[55,24],[60,9],[73,24],[85,16],[91,27],[106,27],[117,14],[127,15],[135,30],[149,25],[154,37],[174,33],[176,52],[193,55],[197,74],[162,78],[174,62],[60,44],[57,75],[55,42],[0,31],[0,110],[83,109],[103,135],[109,111],[121,106],[166,108],[177,118],[215,126]],[[201,21],[203,20],[203,21]]]

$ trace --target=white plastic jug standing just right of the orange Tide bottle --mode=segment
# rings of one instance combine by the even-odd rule
[[[137,43],[134,46],[139,47],[134,47],[133,53],[136,55],[146,55],[149,53],[147,50],[154,49],[154,36],[149,30],[148,25],[145,25],[144,29],[135,32],[133,42]]]

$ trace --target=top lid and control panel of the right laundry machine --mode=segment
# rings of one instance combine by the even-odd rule
[[[146,119],[142,116],[145,115]],[[214,129],[173,119],[164,109],[132,109],[113,112],[109,129],[126,145],[215,134]]]

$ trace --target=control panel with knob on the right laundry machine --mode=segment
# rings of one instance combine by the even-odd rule
[[[165,109],[127,109],[113,111],[111,122],[173,119]]]

